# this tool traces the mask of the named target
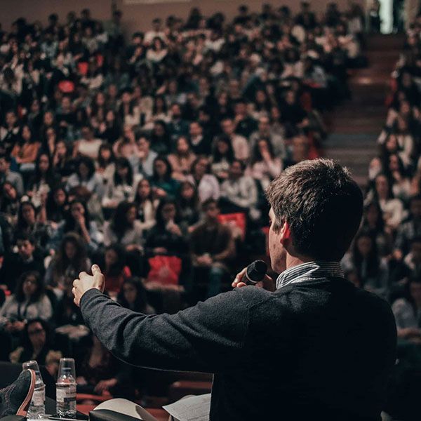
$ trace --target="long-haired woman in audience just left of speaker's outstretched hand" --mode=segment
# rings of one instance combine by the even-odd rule
[[[44,278],[46,286],[53,288],[58,298],[61,298],[65,284],[75,279],[80,272],[87,272],[90,265],[91,260],[86,255],[83,239],[74,232],[68,232],[48,265]]]

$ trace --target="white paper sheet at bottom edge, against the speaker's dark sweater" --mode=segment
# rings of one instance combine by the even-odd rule
[[[178,421],[209,421],[210,393],[180,399],[163,409]]]

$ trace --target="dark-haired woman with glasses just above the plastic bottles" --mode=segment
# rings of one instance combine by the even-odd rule
[[[21,364],[34,360],[39,366],[45,366],[54,378],[57,377],[62,353],[53,348],[50,323],[41,318],[30,319],[22,333],[22,346],[11,352],[11,362]]]

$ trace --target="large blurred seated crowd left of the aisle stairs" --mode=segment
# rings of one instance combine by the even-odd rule
[[[107,293],[146,313],[228,288],[266,253],[267,185],[318,156],[320,111],[363,62],[355,5],[195,8],[128,41],[121,19],[0,32],[0,358],[54,375],[87,347],[81,390],[114,394],[127,373],[87,339],[74,278],[98,262]]]

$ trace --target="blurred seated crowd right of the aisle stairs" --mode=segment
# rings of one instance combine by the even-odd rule
[[[410,391],[421,385],[421,15],[406,32],[387,106],[379,152],[368,168],[361,230],[342,265],[349,280],[392,305],[398,370],[408,364],[411,372],[399,385],[408,389],[408,404],[396,408],[403,410],[399,419],[412,420],[405,410],[415,406],[420,414]]]

